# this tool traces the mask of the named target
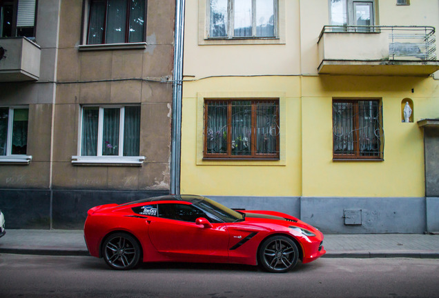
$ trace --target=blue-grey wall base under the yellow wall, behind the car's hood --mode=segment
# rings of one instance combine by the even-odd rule
[[[424,197],[208,197],[230,208],[284,212],[331,234],[426,231]],[[439,200],[435,203],[439,204]],[[360,217],[355,221],[345,220],[344,210],[355,211],[347,214]],[[345,224],[358,220],[360,224]]]

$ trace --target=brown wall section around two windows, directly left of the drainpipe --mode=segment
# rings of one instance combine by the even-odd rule
[[[148,1],[146,49],[81,51],[82,1],[62,2],[53,155],[55,188],[169,188],[172,86],[140,79],[172,77],[174,10],[173,0]],[[146,157],[143,165],[73,166],[72,156],[79,155],[81,105],[125,103],[141,106],[140,155]]]

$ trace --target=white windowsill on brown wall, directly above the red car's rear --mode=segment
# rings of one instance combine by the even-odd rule
[[[90,156],[72,156],[74,166],[142,166],[145,157],[90,157]]]

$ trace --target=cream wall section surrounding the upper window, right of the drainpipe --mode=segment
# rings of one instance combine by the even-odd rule
[[[199,1],[187,0],[184,28],[184,75],[196,78],[224,75],[248,74],[300,74],[300,14],[299,1],[280,1],[284,10],[280,12],[280,26],[285,42],[280,44],[199,46],[199,34],[203,34],[205,23],[200,21]],[[281,5],[280,4],[280,5]],[[203,7],[203,6],[202,6]],[[201,29],[200,29],[201,26]]]

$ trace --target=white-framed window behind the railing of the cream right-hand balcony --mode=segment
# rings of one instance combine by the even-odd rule
[[[329,0],[331,3],[331,25],[375,26],[373,0]]]

